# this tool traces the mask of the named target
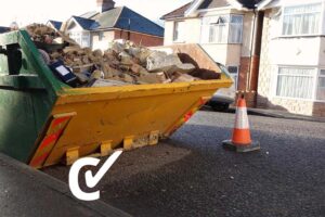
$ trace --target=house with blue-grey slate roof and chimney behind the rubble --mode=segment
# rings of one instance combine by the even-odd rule
[[[96,11],[73,16],[64,30],[81,47],[106,49],[115,39],[127,39],[146,47],[161,46],[164,28],[113,0],[96,0]]]

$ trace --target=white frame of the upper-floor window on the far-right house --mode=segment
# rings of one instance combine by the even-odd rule
[[[283,28],[284,28],[284,16],[285,16],[285,14],[284,14],[284,11],[285,11],[285,9],[286,8],[292,8],[292,7],[303,7],[303,5],[310,5],[310,4],[316,4],[316,3],[321,3],[321,17],[320,17],[320,26],[318,26],[318,33],[316,33],[316,34],[298,34],[298,35],[285,35],[284,34],[284,30],[283,30]],[[301,37],[301,36],[320,36],[320,35],[324,35],[325,33],[324,33],[324,30],[325,30],[325,22],[324,22],[324,7],[325,7],[325,3],[324,3],[324,1],[320,1],[320,0],[309,0],[309,2],[308,3],[291,3],[291,4],[285,4],[285,5],[283,5],[282,7],[282,15],[281,15],[281,30],[280,30],[280,37],[285,37],[285,38],[287,38],[287,37]],[[301,13],[300,13],[301,14]],[[308,13],[306,13],[306,14],[308,14]]]

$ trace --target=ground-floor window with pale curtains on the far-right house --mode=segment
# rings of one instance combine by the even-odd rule
[[[298,99],[313,98],[313,68],[280,67],[276,95]]]

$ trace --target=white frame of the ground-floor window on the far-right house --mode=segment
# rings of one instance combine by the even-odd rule
[[[311,99],[303,99],[303,98],[290,98],[290,97],[281,97],[277,95],[277,82],[278,82],[278,72],[280,68],[285,67],[285,68],[301,68],[301,69],[313,69],[312,78],[313,78],[313,84],[312,84],[312,98]],[[285,100],[299,100],[299,101],[307,101],[307,102],[322,102],[324,103],[325,100],[318,100],[317,99],[317,88],[318,88],[318,77],[321,75],[321,69],[325,71],[325,67],[318,67],[318,66],[301,66],[301,65],[277,65],[276,67],[276,73],[274,74],[274,79],[273,79],[273,85],[272,85],[272,98],[275,99],[285,99]],[[307,76],[309,77],[309,76]],[[323,76],[321,76],[323,77]]]

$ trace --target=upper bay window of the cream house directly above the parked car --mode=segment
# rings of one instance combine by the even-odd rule
[[[220,15],[203,18],[203,42],[242,43],[243,16]]]

